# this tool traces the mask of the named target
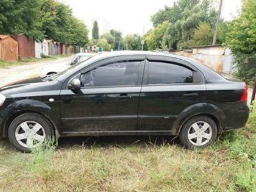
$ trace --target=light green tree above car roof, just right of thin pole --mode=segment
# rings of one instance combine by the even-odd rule
[[[149,50],[166,48],[165,41],[163,41],[163,36],[165,35],[167,27],[168,21],[164,21],[154,29],[149,30],[145,37],[145,41],[147,42]]]

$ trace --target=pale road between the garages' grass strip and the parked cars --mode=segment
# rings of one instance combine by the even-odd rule
[[[65,57],[62,59],[50,60],[47,62],[44,61],[40,63],[29,63],[28,65],[13,66],[11,68],[0,68],[0,87],[18,80],[37,77],[39,76],[40,69],[43,66],[66,63],[70,59],[71,57]]]

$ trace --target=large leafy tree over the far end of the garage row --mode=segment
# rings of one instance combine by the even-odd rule
[[[39,14],[40,19],[35,26],[43,32],[44,38],[75,46],[87,45],[87,26],[72,15],[67,5],[55,0],[41,0]]]

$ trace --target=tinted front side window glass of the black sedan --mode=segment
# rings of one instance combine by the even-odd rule
[[[141,61],[108,63],[82,74],[80,81],[83,87],[137,85],[141,65]]]

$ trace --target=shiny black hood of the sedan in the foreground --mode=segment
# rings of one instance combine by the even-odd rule
[[[0,88],[6,98],[20,98],[35,95],[43,96],[46,91],[60,91],[62,82],[58,80],[43,82],[41,78],[26,79]]]

